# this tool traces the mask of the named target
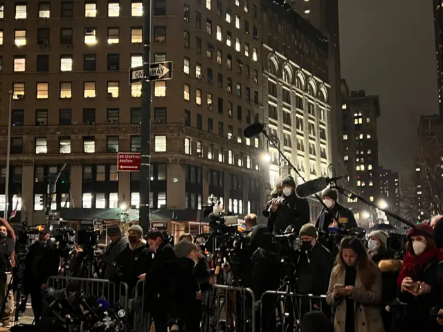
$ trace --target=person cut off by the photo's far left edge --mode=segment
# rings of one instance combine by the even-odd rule
[[[0,219],[0,222],[0,306],[6,301],[3,313],[0,313],[0,320],[3,328],[8,328],[14,311],[14,295],[12,290],[8,289],[8,286],[12,279],[12,268],[15,266],[15,235],[14,239],[10,239],[8,237],[8,226],[11,237],[14,234],[14,230],[12,230],[5,219]]]

